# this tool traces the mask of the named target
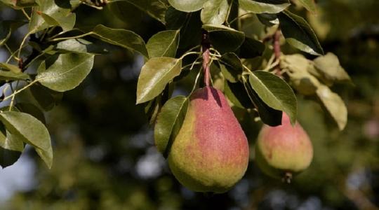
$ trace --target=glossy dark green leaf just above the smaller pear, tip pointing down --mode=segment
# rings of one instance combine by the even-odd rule
[[[291,87],[279,76],[266,71],[253,71],[249,76],[253,90],[272,109],[287,113],[294,125],[298,104]]]

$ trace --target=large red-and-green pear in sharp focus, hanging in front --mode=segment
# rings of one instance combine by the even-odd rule
[[[196,90],[168,153],[176,179],[197,192],[225,193],[248,166],[248,141],[224,94]]]

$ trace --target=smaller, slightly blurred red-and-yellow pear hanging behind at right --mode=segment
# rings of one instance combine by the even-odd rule
[[[283,113],[281,125],[263,125],[255,145],[255,160],[262,172],[277,179],[290,182],[293,175],[310,166],[313,147],[310,137],[301,125],[291,125]]]

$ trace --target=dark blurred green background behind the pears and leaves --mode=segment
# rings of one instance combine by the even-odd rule
[[[298,120],[310,134],[314,160],[293,183],[270,179],[251,158],[244,179],[228,193],[204,195],[180,186],[154,147],[144,106],[135,105],[143,58],[114,47],[95,57],[84,83],[46,113],[52,169],[32,148],[15,165],[0,169],[0,209],[378,209],[379,1],[319,0],[317,5],[316,15],[293,10],[310,22],[324,51],[338,55],[354,85],[333,87],[349,112],[343,132],[319,104],[298,96]],[[14,18],[22,13],[0,4],[0,19]],[[109,8],[78,8],[78,25],[98,23],[131,29],[145,41],[164,29],[133,8],[116,16]],[[14,48],[25,32],[20,28],[8,43]],[[7,57],[0,49],[0,60]],[[177,93],[189,92],[193,78],[187,77]],[[247,114],[238,117],[253,151],[261,124]]]

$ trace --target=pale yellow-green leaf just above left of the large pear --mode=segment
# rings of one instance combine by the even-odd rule
[[[157,97],[175,76],[180,74],[182,59],[154,57],[142,66],[137,84],[137,104]]]

